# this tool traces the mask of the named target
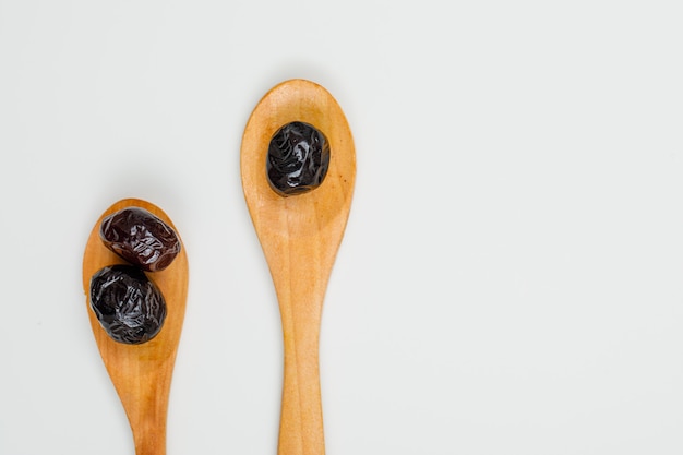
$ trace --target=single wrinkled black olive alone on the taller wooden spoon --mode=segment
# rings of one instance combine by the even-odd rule
[[[279,195],[305,193],[320,187],[328,166],[329,144],[315,127],[296,121],[273,135],[266,172],[271,188]]]

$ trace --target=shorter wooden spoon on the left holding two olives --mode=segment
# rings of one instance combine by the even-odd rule
[[[115,342],[99,325],[89,308],[89,283],[93,274],[104,266],[125,263],[104,246],[99,238],[99,225],[105,216],[129,206],[145,208],[175,229],[170,218],[148,202],[135,199],[117,202],[100,216],[87,240],[83,258],[83,290],[95,342],[133,431],[135,454],[165,455],[168,396],[188,295],[188,258],[184,246],[166,270],[147,273],[164,295],[167,306],[164,326],[149,342],[140,345]]]

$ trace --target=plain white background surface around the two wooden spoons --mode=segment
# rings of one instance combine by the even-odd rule
[[[274,85],[345,110],[328,455],[683,453],[678,1],[0,0],[0,454],[132,454],[87,321],[113,202],[190,294],[168,454],[275,454],[281,332],[239,149]]]

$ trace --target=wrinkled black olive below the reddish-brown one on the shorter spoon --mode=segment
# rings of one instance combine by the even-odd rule
[[[154,338],[166,319],[159,288],[133,265],[109,265],[91,278],[91,308],[116,342],[137,345]]]

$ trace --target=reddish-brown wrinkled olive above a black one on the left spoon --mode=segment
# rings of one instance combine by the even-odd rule
[[[180,252],[176,231],[141,207],[127,207],[107,216],[99,237],[108,249],[147,272],[163,271]]]

